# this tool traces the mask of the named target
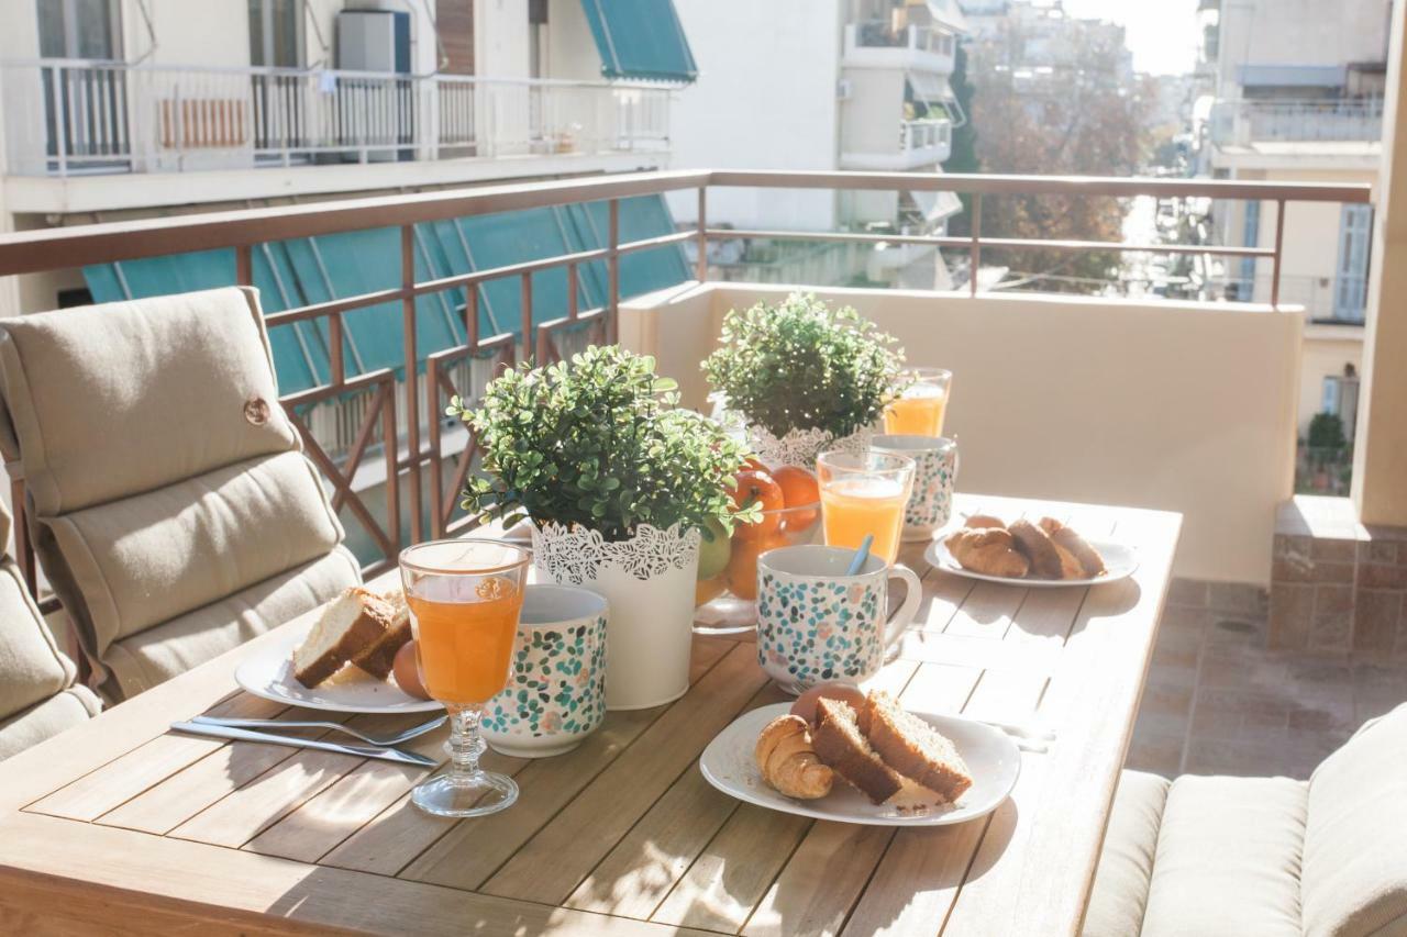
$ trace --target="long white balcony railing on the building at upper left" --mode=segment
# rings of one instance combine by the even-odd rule
[[[0,63],[8,173],[663,151],[670,93],[459,75]]]

